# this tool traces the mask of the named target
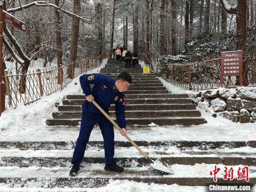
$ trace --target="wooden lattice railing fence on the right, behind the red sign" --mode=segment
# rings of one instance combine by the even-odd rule
[[[149,61],[145,54],[139,54],[139,60],[150,66],[150,72],[185,90],[215,89],[221,86],[221,58],[207,58],[188,63]],[[237,87],[236,76],[231,77],[232,87]],[[227,77],[224,78],[224,83]],[[239,82],[239,81],[238,81]],[[244,86],[256,86],[256,56],[243,56]]]

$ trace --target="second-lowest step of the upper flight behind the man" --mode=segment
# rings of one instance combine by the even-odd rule
[[[109,116],[116,117],[115,111],[109,111]],[[200,117],[199,110],[138,110],[125,111],[126,118],[145,117]],[[53,112],[53,118],[82,118],[82,112]]]

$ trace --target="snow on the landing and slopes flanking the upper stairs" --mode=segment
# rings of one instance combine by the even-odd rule
[[[106,64],[104,60],[99,68],[88,73],[98,73]],[[196,94],[193,91],[184,91],[161,79],[163,85],[171,93]],[[75,83],[78,83],[75,85]],[[47,126],[45,120],[52,118],[52,112],[57,111],[55,103],[62,105],[62,100],[68,94],[83,94],[80,88],[79,77],[75,78],[62,91],[43,96],[30,105],[19,104],[16,109],[8,109],[0,117],[0,141],[75,141],[78,137],[79,126],[63,129]],[[194,140],[194,141],[248,141],[255,140],[256,126],[253,123],[233,123],[222,117],[212,117],[211,113],[197,107],[207,124],[158,126],[152,122],[145,129],[127,129],[127,134],[134,140],[145,140],[144,135],[152,134],[154,137],[148,141],[156,140]],[[116,131],[116,140],[126,140]],[[93,129],[90,140],[103,140],[99,128]]]

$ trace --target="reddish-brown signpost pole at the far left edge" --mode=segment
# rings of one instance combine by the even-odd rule
[[[5,84],[3,83],[3,10],[0,6],[0,116],[5,110]]]

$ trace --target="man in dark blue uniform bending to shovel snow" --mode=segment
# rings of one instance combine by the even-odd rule
[[[86,95],[86,100],[82,105],[82,121],[71,161],[73,166],[69,172],[70,176],[76,176],[79,170],[79,164],[83,160],[86,145],[96,123],[98,123],[101,129],[104,139],[104,169],[107,171],[123,172],[124,168],[118,166],[113,158],[115,145],[113,124],[98,110],[92,101],[95,100],[106,113],[109,111],[109,106],[115,103],[117,124],[123,130],[120,131],[120,133],[124,136],[126,133],[126,122],[123,92],[127,90],[130,83],[132,83],[132,78],[127,72],[119,74],[116,80],[101,74],[86,74],[80,76],[80,84]],[[92,89],[90,88],[90,84],[94,84]]]

